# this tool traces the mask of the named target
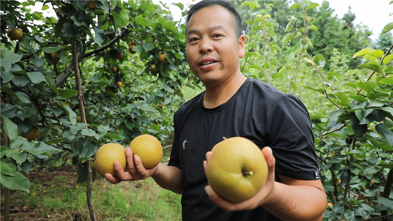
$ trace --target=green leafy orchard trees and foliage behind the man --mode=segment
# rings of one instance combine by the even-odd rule
[[[85,183],[99,146],[140,134],[170,148],[174,111],[203,90],[187,65],[184,18],[151,1],[40,1],[56,17],[31,12],[32,0],[0,2],[2,188],[28,193],[26,174],[54,164],[77,165]],[[355,14],[334,17],[327,1],[232,3],[246,35],[242,72],[309,110],[324,219],[392,220],[393,23],[372,42]],[[9,39],[12,27],[22,39]],[[37,138],[22,137],[34,128]]]

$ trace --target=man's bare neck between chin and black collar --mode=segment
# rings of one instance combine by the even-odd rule
[[[216,86],[206,85],[206,93],[203,98],[203,107],[215,108],[227,102],[247,80],[241,72],[225,83]]]

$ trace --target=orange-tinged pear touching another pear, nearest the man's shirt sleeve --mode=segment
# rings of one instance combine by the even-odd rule
[[[157,166],[163,158],[163,147],[160,140],[152,135],[144,134],[134,138],[130,143],[133,155],[138,155],[146,169]]]

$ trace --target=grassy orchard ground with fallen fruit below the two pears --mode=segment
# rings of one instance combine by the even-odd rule
[[[12,221],[90,220],[86,184],[76,183],[76,171],[76,166],[64,166],[30,172],[30,193],[11,191]],[[3,193],[1,220],[4,220]],[[92,184],[97,221],[181,220],[180,197],[162,189],[152,178],[113,185],[97,176]]]

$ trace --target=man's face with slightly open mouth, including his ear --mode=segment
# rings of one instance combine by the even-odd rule
[[[217,86],[240,72],[244,36],[236,36],[236,20],[224,7],[198,10],[187,25],[187,59],[206,86]]]

